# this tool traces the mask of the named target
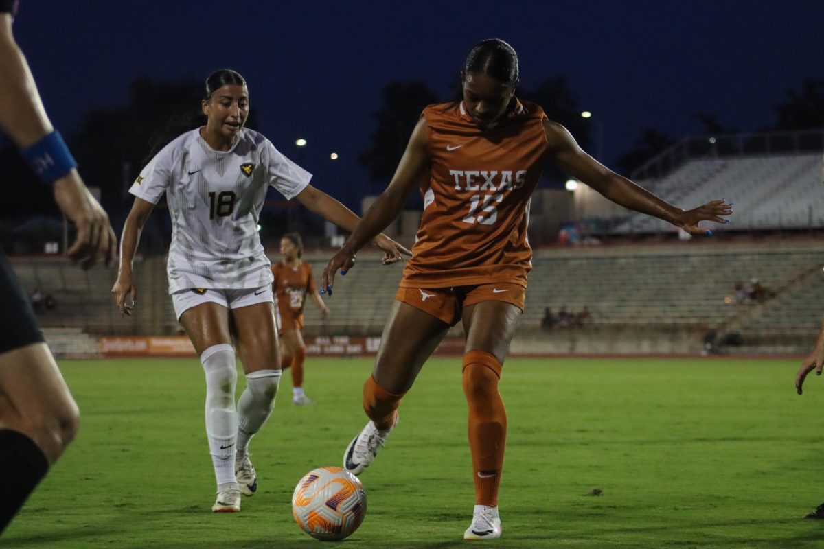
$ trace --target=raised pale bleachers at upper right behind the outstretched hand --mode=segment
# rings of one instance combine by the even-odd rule
[[[774,230],[824,227],[821,178],[822,155],[816,152],[693,159],[661,179],[638,183],[685,208],[727,198],[735,204],[729,230]],[[614,232],[673,230],[664,221],[632,214]]]

